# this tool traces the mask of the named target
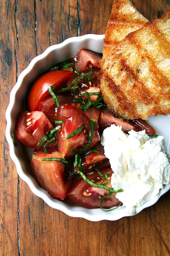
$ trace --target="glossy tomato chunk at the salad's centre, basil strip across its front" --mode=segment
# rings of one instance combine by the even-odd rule
[[[74,106],[60,106],[57,112],[57,120],[62,120],[62,128],[57,131],[57,142],[61,151],[62,157],[70,157],[74,155],[72,149],[79,152],[89,141],[90,137],[90,119],[84,112]],[[84,126],[83,130],[78,134],[66,139],[70,133],[74,132],[77,128]],[[95,146],[100,140],[97,131],[97,124],[94,130],[94,136],[90,144],[90,148]],[[66,140],[64,140],[66,139]]]

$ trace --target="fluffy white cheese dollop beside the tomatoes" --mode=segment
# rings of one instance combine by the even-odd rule
[[[128,213],[159,195],[170,182],[170,157],[163,136],[150,138],[145,131],[125,134],[121,126],[112,124],[101,136],[104,154],[110,160],[111,185]]]

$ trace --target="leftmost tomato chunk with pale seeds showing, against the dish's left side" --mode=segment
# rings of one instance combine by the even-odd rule
[[[28,147],[37,149],[37,144],[53,129],[49,119],[41,111],[23,111],[16,121],[16,135],[18,139]],[[44,144],[41,146],[43,147]],[[56,141],[49,148],[57,148]]]

